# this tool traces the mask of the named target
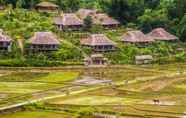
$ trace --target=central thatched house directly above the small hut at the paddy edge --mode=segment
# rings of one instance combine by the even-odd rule
[[[116,43],[104,34],[92,34],[87,38],[83,38],[80,43],[82,46],[92,48],[95,52],[114,51],[116,49]]]

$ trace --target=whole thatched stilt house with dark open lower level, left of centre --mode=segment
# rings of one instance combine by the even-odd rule
[[[56,51],[60,45],[52,32],[35,32],[29,43],[32,51]]]

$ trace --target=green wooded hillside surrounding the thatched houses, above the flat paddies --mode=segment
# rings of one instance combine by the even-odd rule
[[[36,6],[43,1],[59,6],[60,12],[58,7],[56,14],[39,12]],[[111,64],[133,64],[136,55],[152,55],[155,63],[186,60],[186,0],[0,0],[0,8],[0,29],[12,38],[11,51],[0,51],[0,66],[83,64],[85,54],[90,56],[92,52],[81,45],[81,40],[96,33],[102,33],[116,43],[115,51],[103,53]],[[54,18],[65,13],[72,12],[80,17],[77,12],[81,8],[108,14],[121,25],[115,30],[107,29],[95,25],[90,17],[82,20],[84,25],[77,31],[60,31],[54,25]],[[179,40],[156,41],[143,47],[121,42],[120,38],[131,29],[148,34],[156,28],[165,29]],[[57,35],[59,49],[30,53],[29,39],[36,32],[46,31]]]

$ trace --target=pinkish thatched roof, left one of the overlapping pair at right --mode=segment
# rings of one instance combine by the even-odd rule
[[[122,36],[121,41],[130,43],[148,43],[153,42],[154,40],[141,31],[128,31]]]

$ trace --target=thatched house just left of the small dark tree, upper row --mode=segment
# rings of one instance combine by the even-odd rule
[[[83,27],[83,21],[80,20],[74,13],[65,13],[62,16],[54,18],[54,24],[60,30],[72,29],[79,30]]]

